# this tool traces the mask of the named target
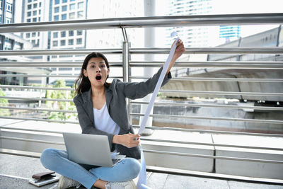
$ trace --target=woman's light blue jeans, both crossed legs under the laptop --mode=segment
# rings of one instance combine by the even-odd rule
[[[139,175],[141,169],[139,161],[133,158],[122,159],[112,167],[76,164],[68,159],[67,151],[51,148],[42,152],[40,161],[45,168],[78,181],[86,188],[91,188],[98,178],[109,182],[130,181]]]

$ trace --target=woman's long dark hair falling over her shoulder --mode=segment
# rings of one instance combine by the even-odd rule
[[[89,88],[91,88],[91,81],[89,81],[88,77],[83,75],[83,69],[86,69],[88,66],[88,62],[91,58],[102,58],[105,61],[106,67],[109,69],[109,63],[107,58],[100,52],[91,52],[91,54],[87,55],[86,58],[83,61],[83,66],[81,67],[81,74],[79,75],[79,78],[76,79],[75,88],[76,88],[76,94],[83,93],[85,91],[88,91]],[[108,77],[107,77],[108,78]],[[76,87],[76,84],[79,83],[79,86]],[[105,86],[108,87],[110,84],[106,83]]]

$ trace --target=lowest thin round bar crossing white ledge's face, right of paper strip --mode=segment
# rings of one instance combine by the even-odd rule
[[[265,159],[248,159],[248,158],[236,158],[236,157],[227,157],[227,156],[187,154],[187,153],[180,153],[180,152],[157,151],[157,150],[151,150],[151,149],[144,149],[143,151],[146,153],[166,154],[166,155],[173,155],[173,156],[192,156],[192,157],[209,158],[209,159],[226,159],[226,160],[233,160],[233,161],[251,161],[251,162],[260,162],[260,163],[267,163],[267,164],[283,164],[283,161],[265,160]]]

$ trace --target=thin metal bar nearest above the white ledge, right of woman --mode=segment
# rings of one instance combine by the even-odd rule
[[[144,116],[142,113],[130,113],[130,115]],[[241,118],[214,118],[205,116],[189,116],[189,115],[164,115],[164,114],[151,114],[151,117],[159,118],[182,118],[182,119],[200,119],[200,120],[223,120],[223,121],[237,121],[237,122],[260,122],[269,124],[283,124],[283,120],[255,120],[255,119],[241,119]]]

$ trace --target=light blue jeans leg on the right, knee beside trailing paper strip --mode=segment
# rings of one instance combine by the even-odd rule
[[[112,167],[91,168],[89,172],[103,181],[125,182],[139,175],[141,164],[134,158],[125,158]]]

